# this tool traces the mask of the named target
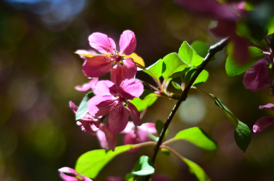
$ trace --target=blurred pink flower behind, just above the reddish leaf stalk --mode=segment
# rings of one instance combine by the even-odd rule
[[[126,133],[124,144],[138,144],[149,141],[148,134],[155,134],[156,128],[154,123],[144,123],[141,126],[135,126],[133,122],[128,122],[126,128],[121,133]],[[136,152],[139,148],[131,149],[129,152]]]

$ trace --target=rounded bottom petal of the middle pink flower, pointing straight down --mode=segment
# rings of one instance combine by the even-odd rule
[[[108,115],[109,129],[113,133],[120,133],[126,128],[128,119],[128,109],[123,105],[116,106]]]

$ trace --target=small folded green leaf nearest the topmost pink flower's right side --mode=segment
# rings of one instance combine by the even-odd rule
[[[163,63],[162,59],[159,59],[154,64],[146,67],[143,72],[149,74],[154,78],[159,78],[162,75],[162,72],[166,70],[166,64]]]

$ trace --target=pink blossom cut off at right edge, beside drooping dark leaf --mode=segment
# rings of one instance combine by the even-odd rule
[[[264,106],[259,106],[259,109],[270,109],[274,111],[274,105],[269,103]],[[268,126],[270,126],[272,123],[274,123],[274,116],[261,117],[253,125],[253,132],[260,133],[263,130],[265,130]]]

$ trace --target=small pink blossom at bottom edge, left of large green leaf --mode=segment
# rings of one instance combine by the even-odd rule
[[[90,179],[89,177],[77,173],[75,169],[70,167],[63,167],[58,169],[58,171],[60,172],[61,178],[65,181],[92,181],[92,179]]]

